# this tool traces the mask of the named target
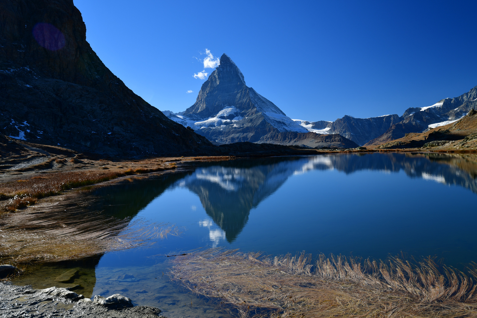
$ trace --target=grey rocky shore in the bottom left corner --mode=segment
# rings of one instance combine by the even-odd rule
[[[145,318],[161,317],[161,309],[133,306],[131,299],[115,294],[104,298],[84,298],[68,288],[33,289],[0,282],[0,318],[92,317]]]

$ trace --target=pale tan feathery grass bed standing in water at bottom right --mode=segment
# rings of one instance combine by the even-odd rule
[[[173,260],[171,277],[242,317],[477,317],[471,277],[433,259],[268,258],[212,248]],[[477,265],[477,264],[474,264]],[[476,277],[475,267],[469,268]]]

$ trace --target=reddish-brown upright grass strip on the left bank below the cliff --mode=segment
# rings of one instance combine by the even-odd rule
[[[138,168],[127,170],[86,170],[51,173],[45,176],[34,176],[25,180],[15,180],[0,184],[0,199],[10,199],[0,206],[0,212],[14,212],[35,203],[35,199],[58,195],[64,190],[79,186],[93,185],[115,179],[124,175],[145,174],[169,169],[176,165],[157,166],[154,168]]]

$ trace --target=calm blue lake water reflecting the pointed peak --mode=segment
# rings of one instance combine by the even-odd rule
[[[180,236],[37,266],[16,283],[53,286],[51,277],[78,267],[84,276],[75,283],[86,296],[120,293],[169,317],[229,317],[170,283],[165,255],[225,246],[381,259],[404,252],[458,268],[477,261],[475,155],[327,154],[191,163],[187,170],[91,194],[91,209],[176,224]]]

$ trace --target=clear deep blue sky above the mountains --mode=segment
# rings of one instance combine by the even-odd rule
[[[206,48],[294,119],[401,115],[477,85],[476,1],[74,4],[104,64],[160,110],[196,101]]]

